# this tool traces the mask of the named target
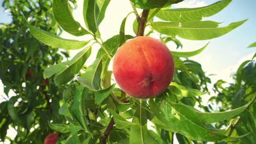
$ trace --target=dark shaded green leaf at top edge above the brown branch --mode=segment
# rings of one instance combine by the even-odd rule
[[[179,3],[184,0],[130,0],[136,8],[140,9],[153,9],[164,8],[171,4]]]

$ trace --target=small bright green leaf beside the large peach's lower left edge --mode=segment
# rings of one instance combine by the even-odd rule
[[[95,94],[96,103],[100,105],[101,102],[104,99],[106,99],[108,95],[113,91],[114,87],[115,87],[115,84],[101,91],[95,91],[94,94]]]

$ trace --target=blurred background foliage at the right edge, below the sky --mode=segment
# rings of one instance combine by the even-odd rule
[[[222,104],[219,111],[227,111],[230,109],[239,109],[242,105],[248,103],[253,97],[255,97],[256,81],[252,79],[256,75],[256,61],[255,55],[251,60],[243,62],[233,75],[234,83],[227,83],[223,80],[219,80],[214,84],[214,91],[217,93],[216,97],[210,99],[211,103]],[[225,84],[228,86],[225,87]],[[228,131],[229,136],[245,135],[250,132],[249,135],[242,137],[241,143],[254,143],[256,137],[256,122],[255,101],[248,106],[248,109],[243,111],[237,117],[230,119],[229,121],[223,121],[216,123],[217,128],[230,127]],[[207,111],[214,111],[210,107],[205,107]]]

